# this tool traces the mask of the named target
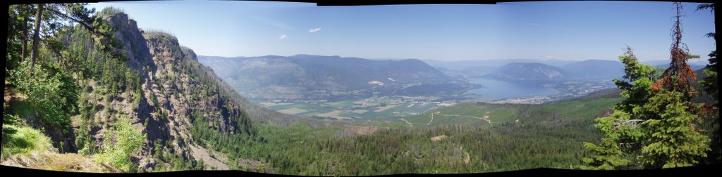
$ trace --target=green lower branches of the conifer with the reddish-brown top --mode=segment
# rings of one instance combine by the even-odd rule
[[[649,144],[642,148],[645,163],[653,167],[674,168],[695,165],[697,159],[707,157],[710,138],[700,134],[695,121],[697,115],[689,107],[679,91],[661,90],[650,99],[645,109],[659,117],[648,119],[645,133]]]

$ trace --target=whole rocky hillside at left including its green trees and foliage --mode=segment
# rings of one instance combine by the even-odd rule
[[[13,7],[37,11],[33,5]],[[82,10],[73,4],[45,7],[46,17]],[[201,169],[191,149],[208,145],[193,144],[199,142],[194,137],[240,145],[256,134],[243,108],[249,103],[233,99],[235,93],[173,35],[144,32],[119,9],[83,17],[95,21],[56,27],[56,33],[44,36],[40,41],[48,43],[39,46],[35,63],[9,50],[13,63],[6,66],[5,112],[18,119],[4,125],[44,129],[58,153],[87,155],[121,171]],[[12,38],[9,47],[21,45],[22,37]],[[103,43],[100,37],[115,41]],[[57,94],[48,97],[48,91]],[[4,149],[22,148],[6,142],[14,132],[6,130]],[[3,164],[20,156],[4,150]]]

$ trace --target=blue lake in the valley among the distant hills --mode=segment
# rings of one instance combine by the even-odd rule
[[[557,94],[556,89],[534,86],[523,81],[500,81],[493,78],[466,78],[469,83],[484,86],[482,89],[471,89],[468,94],[478,94],[483,101],[509,99],[528,96],[549,96]]]

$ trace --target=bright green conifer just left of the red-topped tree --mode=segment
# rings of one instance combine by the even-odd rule
[[[658,70],[651,65],[638,63],[632,48],[627,46],[626,53],[619,56],[625,63],[625,80],[614,79],[614,84],[622,89],[620,94],[625,98],[614,106],[614,113],[608,117],[596,119],[594,127],[604,134],[599,145],[584,142],[584,146],[595,154],[592,158],[583,158],[585,165],[582,169],[588,170],[614,170],[634,168],[632,154],[638,153],[638,141],[643,132],[637,129],[637,122],[641,119],[632,117],[645,117],[651,114],[643,109],[651,96],[651,84],[658,77]]]

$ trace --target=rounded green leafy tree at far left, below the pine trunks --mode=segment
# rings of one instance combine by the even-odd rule
[[[10,80],[40,113],[43,123],[66,130],[70,116],[77,112],[78,86],[75,79],[56,65],[29,67],[25,61],[10,71]]]

